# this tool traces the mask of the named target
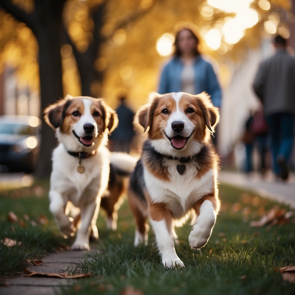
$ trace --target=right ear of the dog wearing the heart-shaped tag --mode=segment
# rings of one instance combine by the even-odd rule
[[[199,98],[199,106],[203,112],[205,123],[210,132],[215,132],[214,127],[219,122],[218,108],[213,106],[210,96],[206,92],[202,92],[197,96]]]

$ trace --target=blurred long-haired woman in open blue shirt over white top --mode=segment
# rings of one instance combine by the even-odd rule
[[[214,106],[221,106],[221,89],[212,65],[204,60],[198,49],[199,38],[189,27],[181,28],[175,36],[174,55],[160,75],[158,92],[206,91]],[[216,134],[216,133],[215,133]],[[216,145],[217,138],[214,138]]]

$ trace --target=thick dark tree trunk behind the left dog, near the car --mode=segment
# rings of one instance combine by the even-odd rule
[[[39,12],[37,39],[39,43],[41,114],[49,104],[63,98],[60,56],[62,2],[64,1],[49,0],[36,7]],[[39,161],[35,171],[37,178],[45,178],[50,175],[51,154],[57,145],[54,131],[44,122],[43,118],[41,137]]]

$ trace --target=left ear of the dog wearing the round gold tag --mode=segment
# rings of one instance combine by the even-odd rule
[[[60,127],[63,123],[64,110],[69,106],[72,98],[72,96],[67,95],[64,99],[60,99],[58,102],[48,106],[44,110],[44,120],[53,130]]]

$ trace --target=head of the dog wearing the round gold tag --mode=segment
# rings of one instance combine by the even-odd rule
[[[98,148],[106,130],[118,125],[116,112],[102,99],[88,96],[66,96],[44,110],[45,122],[56,130],[60,142],[71,151]]]

